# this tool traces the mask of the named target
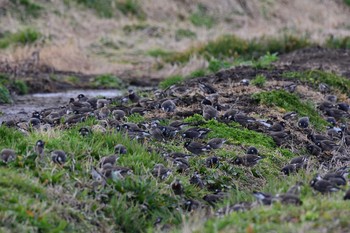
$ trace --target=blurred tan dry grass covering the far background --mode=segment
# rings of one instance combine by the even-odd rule
[[[8,2],[5,1],[5,2]],[[79,71],[89,74],[122,73],[130,70],[148,70],[153,77],[165,77],[196,70],[207,64],[193,59],[186,67],[166,65],[158,69],[156,58],[147,56],[150,49],[182,51],[186,48],[231,34],[251,39],[260,36],[276,36],[286,32],[308,35],[316,41],[323,41],[330,34],[344,36],[350,8],[337,1],[235,1],[195,0],[168,1],[159,4],[157,0],[140,1],[147,17],[145,21],[118,15],[105,19],[94,15],[84,7],[63,1],[39,1],[45,7],[45,14],[31,19],[45,36],[45,43],[34,48],[16,48],[2,52],[0,60],[20,60],[29,57],[34,50],[40,50],[40,63],[58,70]],[[196,27],[189,17],[201,4],[215,19],[212,28]],[[1,17],[0,28],[15,32],[23,26],[15,16]],[[145,25],[144,29],[125,33],[123,28]],[[196,34],[196,38],[175,39],[179,28]],[[111,46],[106,46],[112,43]],[[132,72],[138,75],[138,72]]]

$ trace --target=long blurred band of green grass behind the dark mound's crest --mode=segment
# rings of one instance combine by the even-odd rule
[[[206,44],[192,47],[184,52],[175,53],[174,56],[165,59],[167,62],[187,62],[193,55],[201,55],[208,60],[212,57],[223,60],[225,58],[256,59],[268,52],[273,57],[275,53],[287,53],[299,48],[310,46],[310,42],[304,38],[285,35],[282,38],[260,38],[250,41],[243,40],[233,35],[224,35]]]

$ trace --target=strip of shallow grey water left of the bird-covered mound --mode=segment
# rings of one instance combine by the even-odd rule
[[[14,97],[13,104],[0,105],[0,122],[9,119],[28,119],[32,112],[45,108],[66,105],[70,98],[79,94],[87,97],[115,97],[123,94],[120,90],[70,90],[56,93],[36,93]]]

